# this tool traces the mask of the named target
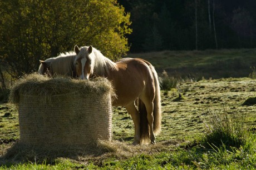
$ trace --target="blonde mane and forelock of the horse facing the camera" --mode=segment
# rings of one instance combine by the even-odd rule
[[[106,76],[110,71],[117,69],[116,63],[103,56],[99,50],[92,47],[92,52],[88,55],[87,49],[88,46],[80,48],[80,52],[77,54],[75,62],[77,59],[88,57],[91,60],[91,74],[96,76]]]

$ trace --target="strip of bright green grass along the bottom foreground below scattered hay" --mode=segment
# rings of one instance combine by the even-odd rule
[[[250,142],[256,142],[255,137],[254,141]],[[240,147],[228,151],[225,146],[211,150],[196,146],[156,154],[141,153],[125,160],[107,158],[100,164],[56,159],[51,164],[47,161],[40,164],[28,162],[2,166],[0,169],[254,169],[256,168],[255,149],[255,146],[250,150]]]

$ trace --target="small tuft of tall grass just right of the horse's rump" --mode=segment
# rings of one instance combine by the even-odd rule
[[[168,76],[168,73],[166,71],[163,71],[163,73],[159,77],[159,82],[162,90],[170,91],[171,88],[176,88],[178,79]]]

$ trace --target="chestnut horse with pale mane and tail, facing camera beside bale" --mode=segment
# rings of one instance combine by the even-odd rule
[[[124,58],[114,63],[92,46],[81,49],[75,46],[75,52],[78,77],[103,76],[112,82],[117,95],[113,106],[124,106],[134,122],[133,144],[148,143],[149,140],[155,144],[155,135],[161,131],[161,98],[154,67],[140,58]]]

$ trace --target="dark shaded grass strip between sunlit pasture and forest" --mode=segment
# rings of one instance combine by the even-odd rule
[[[255,67],[256,49],[221,49],[205,51],[161,51],[128,54],[125,57],[143,58],[164,70],[169,76],[194,78],[248,77]]]

